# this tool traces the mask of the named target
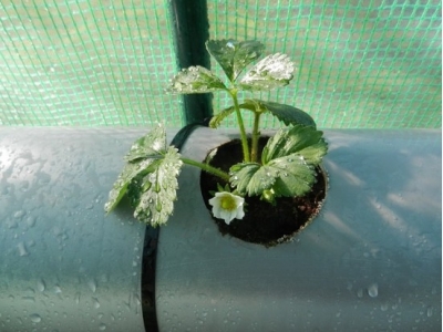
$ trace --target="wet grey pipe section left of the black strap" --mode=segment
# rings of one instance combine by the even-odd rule
[[[103,212],[145,132],[0,128],[0,331],[145,331],[145,227]]]

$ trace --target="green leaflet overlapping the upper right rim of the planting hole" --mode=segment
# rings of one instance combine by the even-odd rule
[[[262,163],[297,154],[306,163],[317,166],[328,152],[328,144],[322,135],[321,131],[311,126],[281,128],[266,144],[261,154]]]

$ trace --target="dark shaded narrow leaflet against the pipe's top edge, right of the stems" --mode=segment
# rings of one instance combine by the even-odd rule
[[[245,103],[254,103],[255,105],[257,105],[256,107],[270,112],[287,126],[302,124],[305,126],[316,127],[316,122],[313,121],[313,118],[308,113],[297,107],[259,100],[246,100]]]

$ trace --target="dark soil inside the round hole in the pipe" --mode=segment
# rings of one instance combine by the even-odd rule
[[[267,139],[261,138],[260,149]],[[235,139],[217,148],[210,165],[228,172],[229,167],[239,163],[241,158],[240,141]],[[326,178],[323,170],[318,167],[317,181],[312,190],[302,197],[281,197],[277,199],[275,206],[260,200],[259,197],[246,197],[246,215],[241,220],[234,219],[226,225],[223,219],[214,216],[213,219],[223,235],[228,234],[248,242],[270,247],[288,241],[319,212],[326,196]],[[219,177],[202,172],[202,196],[209,210],[212,206],[208,200],[213,197],[209,191],[217,191],[217,183],[225,186]]]

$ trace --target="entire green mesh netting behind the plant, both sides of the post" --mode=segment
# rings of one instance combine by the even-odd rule
[[[210,38],[258,39],[297,63],[261,97],[319,127],[441,127],[441,1],[207,6]],[[164,94],[177,71],[168,1],[1,1],[0,20],[0,125],[183,125],[182,97]],[[215,112],[226,103],[215,96]]]

